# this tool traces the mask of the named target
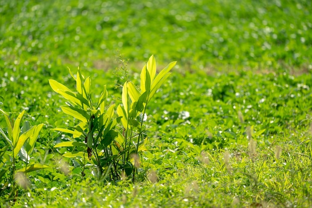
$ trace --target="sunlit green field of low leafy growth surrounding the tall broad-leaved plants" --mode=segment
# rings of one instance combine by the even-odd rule
[[[145,104],[144,127],[144,113],[131,121],[142,121],[144,139],[129,163],[135,182],[126,166],[99,176],[91,160],[63,157],[87,146],[54,147],[84,138],[53,130],[79,119],[49,80],[74,90],[67,68],[79,67],[90,99],[106,85],[117,121],[122,85],[142,90],[153,54],[158,73],[177,63]],[[0,110],[0,208],[310,208],[312,2],[0,0]],[[7,122],[23,111],[13,132],[42,129],[14,152]],[[119,122],[112,135],[124,129]]]

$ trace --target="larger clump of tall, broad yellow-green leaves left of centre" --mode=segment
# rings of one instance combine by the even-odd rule
[[[100,179],[115,181],[126,174],[134,181],[136,170],[140,167],[138,154],[145,150],[144,140],[147,139],[144,125],[147,105],[175,63],[169,63],[156,75],[156,60],[152,55],[142,69],[140,89],[131,81],[124,83],[117,116],[114,113],[115,104],[105,105],[108,96],[106,85],[99,100],[94,102],[90,95],[91,78],[85,78],[79,69],[76,76],[69,70],[76,81],[76,91],[50,79],[52,89],[67,100],[67,105],[61,106],[62,111],[78,120],[75,126],[54,129],[72,135],[71,141],[54,147],[71,147],[71,152],[63,156],[80,158],[83,165],[94,165]]]

